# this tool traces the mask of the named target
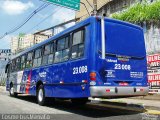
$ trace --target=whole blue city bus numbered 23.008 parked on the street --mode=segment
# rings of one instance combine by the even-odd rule
[[[144,96],[148,93],[143,30],[91,16],[16,55],[6,66],[11,96],[70,99]]]

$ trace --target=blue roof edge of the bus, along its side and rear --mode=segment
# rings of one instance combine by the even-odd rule
[[[32,47],[20,52],[20,53],[18,53],[12,59],[15,59],[15,58],[27,53],[27,52],[30,52],[30,51],[32,51],[32,50],[34,50],[36,48],[39,48],[39,47],[41,47],[41,46],[43,46],[43,45],[45,45],[45,44],[47,44],[47,43],[49,43],[49,42],[51,42],[53,40],[56,40],[57,38],[65,35],[65,34],[68,34],[68,33],[72,32],[72,31],[74,31],[74,30],[76,30],[76,29],[78,29],[80,27],[83,27],[83,26],[93,22],[95,19],[99,19],[100,20],[101,17],[91,16],[91,17],[89,17],[89,18],[77,23],[76,25],[74,25],[74,26],[72,26],[70,28],[67,28],[66,30],[56,34],[55,36],[52,36],[52,37],[48,38],[47,40],[45,40],[45,41],[43,41],[41,43],[38,43],[38,44],[36,44],[36,45],[34,45],[34,46],[32,46]],[[137,25],[134,25],[134,24],[131,24],[131,23],[128,23],[128,22],[124,22],[124,21],[120,21],[120,20],[116,20],[116,19],[105,18],[105,20],[107,20],[108,22],[112,22],[112,23],[118,23],[118,24],[123,24],[123,25],[130,26],[130,27],[134,27],[136,29],[142,29],[141,27],[139,27]]]

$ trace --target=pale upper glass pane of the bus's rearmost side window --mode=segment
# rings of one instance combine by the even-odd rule
[[[77,45],[83,42],[83,31],[78,31],[73,34],[73,43],[72,45]]]

